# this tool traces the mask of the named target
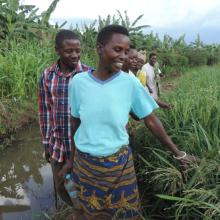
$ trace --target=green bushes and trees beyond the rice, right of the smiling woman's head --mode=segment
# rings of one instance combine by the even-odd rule
[[[164,35],[161,41],[153,32],[132,36],[132,41],[138,50],[149,53],[156,52],[164,73],[182,72],[187,67],[214,65],[220,60],[219,45],[205,45],[199,35],[195,42],[187,45],[185,35],[174,40]]]

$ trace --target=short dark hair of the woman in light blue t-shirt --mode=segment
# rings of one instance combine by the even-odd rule
[[[105,45],[111,39],[113,34],[123,34],[129,37],[127,28],[121,25],[108,25],[102,28],[97,36],[96,43]]]

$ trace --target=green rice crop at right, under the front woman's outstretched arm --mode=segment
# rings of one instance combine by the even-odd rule
[[[183,172],[143,124],[133,130],[146,217],[220,219],[219,70],[219,66],[190,70],[166,97],[174,109],[157,113],[177,145],[200,158],[199,165]]]

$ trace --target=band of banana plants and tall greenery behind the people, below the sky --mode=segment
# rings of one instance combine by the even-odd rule
[[[35,6],[20,5],[18,0],[0,0],[0,97],[33,98],[36,96],[39,73],[55,59],[54,36],[63,27],[50,25],[49,18],[59,0],[54,0],[47,11],[37,15]],[[161,40],[157,34],[144,34],[137,26],[140,15],[131,22],[127,13],[98,17],[93,23],[74,29],[82,42],[83,62],[95,66],[95,39],[97,31],[107,24],[122,24],[128,28],[131,40],[138,50],[147,55],[158,53],[164,73],[178,72],[183,68],[212,65],[219,61],[220,46],[205,45],[198,38],[187,44],[184,35],[172,39],[165,35]],[[72,28],[73,29],[73,28]],[[147,30],[147,29],[146,29]]]

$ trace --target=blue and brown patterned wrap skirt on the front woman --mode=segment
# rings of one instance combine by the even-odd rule
[[[129,146],[101,158],[76,150],[73,179],[88,219],[138,219],[140,199]]]

